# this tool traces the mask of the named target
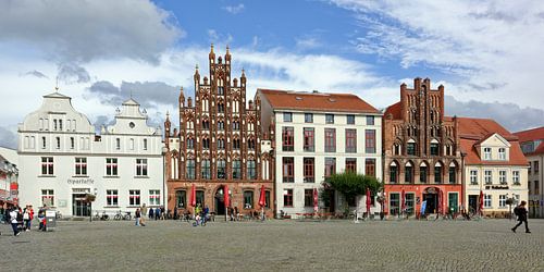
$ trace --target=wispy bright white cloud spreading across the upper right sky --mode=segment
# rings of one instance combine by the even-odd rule
[[[540,1],[355,1],[360,52],[450,75],[457,99],[511,101],[542,109],[537,83],[544,62]],[[512,95],[516,94],[516,95]]]

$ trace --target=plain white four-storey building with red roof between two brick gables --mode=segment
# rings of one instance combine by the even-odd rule
[[[326,176],[345,170],[382,180],[382,114],[359,97],[347,94],[258,89],[263,129],[274,137],[275,211],[293,217],[312,213],[313,188]],[[366,197],[358,200],[366,211]],[[320,212],[343,212],[347,203],[336,194]],[[372,199],[371,213],[380,212]]]

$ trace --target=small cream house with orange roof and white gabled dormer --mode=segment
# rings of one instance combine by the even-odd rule
[[[489,119],[459,118],[458,123],[469,210],[483,205],[483,215],[509,217],[510,208],[528,199],[528,162],[518,137]]]

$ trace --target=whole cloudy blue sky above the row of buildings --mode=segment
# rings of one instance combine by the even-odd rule
[[[378,108],[399,85],[445,85],[446,113],[511,131],[544,125],[542,1],[0,1],[0,146],[54,90],[92,123],[131,94],[160,124],[194,92],[210,44],[257,88],[355,92]],[[174,114],[175,116],[175,114]]]

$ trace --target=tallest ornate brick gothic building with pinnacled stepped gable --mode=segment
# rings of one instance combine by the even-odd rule
[[[231,54],[215,58],[209,53],[209,78],[194,75],[195,101],[180,94],[180,131],[164,122],[168,209],[178,212],[190,207],[195,184],[197,203],[224,214],[224,185],[231,191],[231,205],[240,213],[260,211],[259,196],[264,185],[267,215],[272,217],[274,190],[270,140],[263,139],[260,100],[246,107],[246,76],[231,78]]]

